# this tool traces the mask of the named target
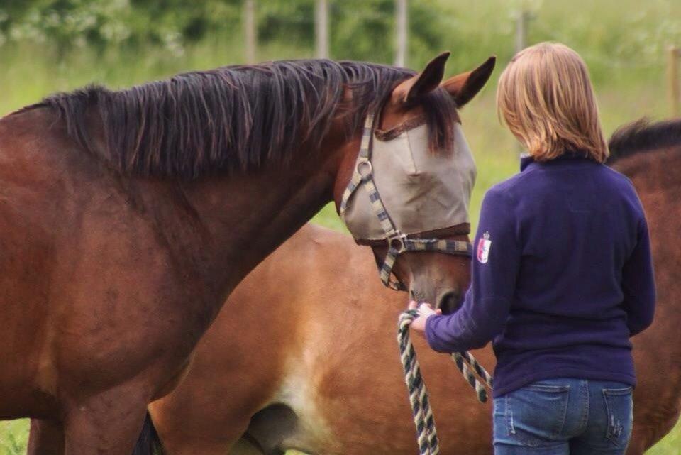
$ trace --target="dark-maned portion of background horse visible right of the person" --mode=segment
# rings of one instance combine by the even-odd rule
[[[681,119],[620,128],[610,148],[609,163],[631,179],[646,209],[658,290],[653,325],[633,338],[638,386],[627,454],[641,455],[681,412]]]

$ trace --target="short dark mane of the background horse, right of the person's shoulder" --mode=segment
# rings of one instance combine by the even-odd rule
[[[636,153],[675,145],[681,145],[681,119],[655,123],[640,119],[613,133],[608,144],[608,164]]]

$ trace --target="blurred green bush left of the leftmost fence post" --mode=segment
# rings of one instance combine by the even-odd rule
[[[59,50],[150,43],[177,50],[239,19],[236,0],[4,0],[0,43],[28,40]]]

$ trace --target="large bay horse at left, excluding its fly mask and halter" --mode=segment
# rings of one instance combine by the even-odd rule
[[[223,67],[55,94],[0,119],[0,419],[35,418],[32,454],[130,454],[148,402],[182,378],[233,288],[340,203],[365,119],[382,131],[422,119],[412,145],[432,159],[468,152],[453,150],[457,106],[494,59],[442,82],[447,57],[419,74]],[[437,235],[467,241],[467,226]],[[394,275],[446,305],[466,264],[405,253]]]

